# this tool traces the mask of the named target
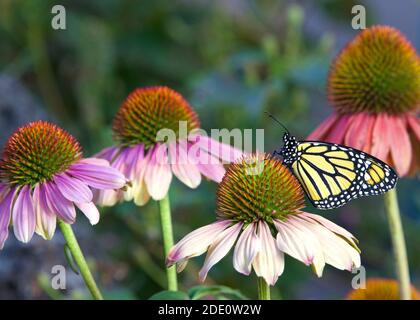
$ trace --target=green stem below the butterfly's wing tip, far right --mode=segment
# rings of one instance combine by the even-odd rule
[[[385,193],[385,211],[388,216],[389,230],[392,239],[396,272],[399,281],[400,299],[411,300],[410,272],[408,269],[407,249],[404,231],[398,207],[397,191],[392,189]]]

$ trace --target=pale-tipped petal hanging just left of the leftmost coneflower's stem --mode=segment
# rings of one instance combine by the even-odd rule
[[[50,240],[55,232],[57,216],[48,205],[43,184],[37,184],[32,195],[36,215],[35,232]]]

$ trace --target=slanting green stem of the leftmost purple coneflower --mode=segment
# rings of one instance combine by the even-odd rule
[[[77,242],[76,236],[74,235],[71,226],[63,221],[58,221],[58,226],[63,233],[64,239],[66,240],[67,246],[69,247],[71,254],[79,266],[80,273],[82,274],[83,280],[85,281],[86,287],[89,289],[92,297],[95,300],[103,300],[102,294],[96,285],[95,279],[93,279],[92,273],[90,272],[89,266],[86,263],[86,259],[83,256],[83,252],[80,249],[79,243]]]

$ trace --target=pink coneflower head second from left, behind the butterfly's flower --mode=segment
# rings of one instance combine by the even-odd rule
[[[199,128],[197,114],[176,91],[167,87],[134,90],[114,119],[116,145],[97,155],[123,172],[132,188],[100,192],[97,203],[112,206],[125,199],[141,206],[150,197],[162,200],[173,175],[190,188],[200,184],[202,175],[220,182],[223,162],[232,162],[242,153],[206,137]],[[170,141],[159,139],[162,129],[173,133]]]

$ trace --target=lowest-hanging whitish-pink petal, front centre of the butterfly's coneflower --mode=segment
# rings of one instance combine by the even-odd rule
[[[270,228],[265,222],[258,223],[258,237],[261,241],[261,249],[252,263],[257,276],[273,286],[284,270],[283,253],[277,249]]]

